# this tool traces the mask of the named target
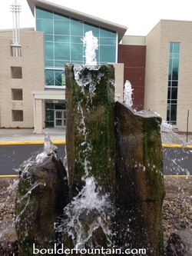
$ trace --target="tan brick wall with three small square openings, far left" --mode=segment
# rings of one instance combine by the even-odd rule
[[[33,96],[31,91],[41,91],[45,87],[44,78],[44,35],[27,29],[20,32],[22,56],[11,54],[12,33],[0,32],[1,62],[1,118],[5,128],[34,127]],[[11,67],[22,67],[22,79],[12,78]],[[12,100],[12,88],[22,89],[22,101]],[[23,111],[23,121],[12,121],[12,110]]]

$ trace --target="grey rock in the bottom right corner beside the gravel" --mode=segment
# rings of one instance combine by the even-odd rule
[[[192,256],[192,231],[190,229],[170,234],[167,256]]]

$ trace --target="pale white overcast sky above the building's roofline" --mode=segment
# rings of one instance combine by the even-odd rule
[[[12,28],[10,5],[15,0],[0,0],[0,29]],[[27,0],[22,5],[20,27],[35,26]],[[192,21],[190,0],[49,0],[79,12],[127,26],[127,35],[147,35],[161,19]]]

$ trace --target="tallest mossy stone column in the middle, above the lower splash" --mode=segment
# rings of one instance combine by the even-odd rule
[[[66,149],[71,198],[94,176],[114,191],[114,66],[66,65]],[[82,177],[84,177],[82,179]]]

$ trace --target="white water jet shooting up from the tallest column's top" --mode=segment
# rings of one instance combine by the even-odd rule
[[[81,40],[85,46],[85,65],[97,65],[95,50],[98,50],[98,38],[95,38],[93,33],[89,31]]]

